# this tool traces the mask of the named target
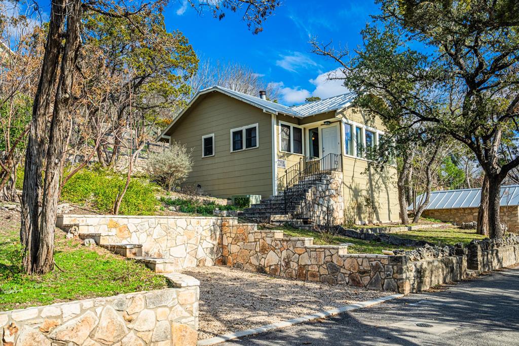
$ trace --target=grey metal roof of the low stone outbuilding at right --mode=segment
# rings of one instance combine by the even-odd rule
[[[416,203],[424,201],[425,194],[416,197]],[[426,210],[477,208],[481,202],[481,189],[461,189],[431,192],[431,201]],[[500,206],[519,205],[519,185],[504,185],[501,187]],[[413,204],[407,208],[412,210]]]

